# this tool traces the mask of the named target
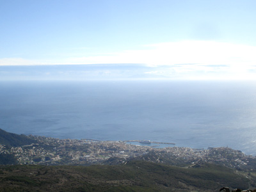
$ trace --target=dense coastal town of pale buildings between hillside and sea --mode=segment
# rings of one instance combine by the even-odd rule
[[[120,164],[131,160],[175,165],[201,163],[222,164],[230,168],[250,170],[256,158],[227,147],[193,149],[188,147],[155,148],[131,145],[125,141],[60,140],[44,136],[28,136],[31,145],[8,147],[0,145],[0,154],[11,154],[17,164]],[[153,142],[152,142],[153,143]]]

